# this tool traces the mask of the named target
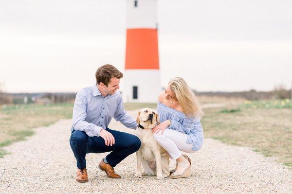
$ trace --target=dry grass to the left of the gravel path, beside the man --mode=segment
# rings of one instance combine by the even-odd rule
[[[73,104],[9,105],[0,109],[0,147],[25,140],[39,126],[48,126],[59,119],[72,117]],[[5,152],[0,150],[0,157]]]

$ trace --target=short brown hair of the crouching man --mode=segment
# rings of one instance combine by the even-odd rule
[[[123,73],[110,64],[101,66],[95,72],[95,78],[96,78],[97,84],[102,82],[107,87],[109,85],[110,78],[112,77],[121,79],[123,77]]]

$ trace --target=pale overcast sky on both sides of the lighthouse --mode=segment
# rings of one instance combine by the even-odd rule
[[[292,82],[292,0],[158,0],[162,86],[271,90]],[[0,0],[7,92],[77,92],[124,71],[126,0]],[[137,78],[138,79],[138,78]]]

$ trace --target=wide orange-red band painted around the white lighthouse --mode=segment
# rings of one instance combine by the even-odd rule
[[[159,69],[157,29],[127,29],[125,69]]]

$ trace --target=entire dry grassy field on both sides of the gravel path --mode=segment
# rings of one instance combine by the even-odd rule
[[[277,157],[279,162],[292,168],[291,100],[241,100],[226,104],[232,106],[204,109],[202,125],[205,137],[252,147],[267,157]],[[142,107],[155,108],[156,104],[125,104],[126,110]],[[72,110],[73,104],[2,106],[0,157],[7,154],[4,146],[33,135],[35,127],[48,126],[59,119],[71,119]]]

